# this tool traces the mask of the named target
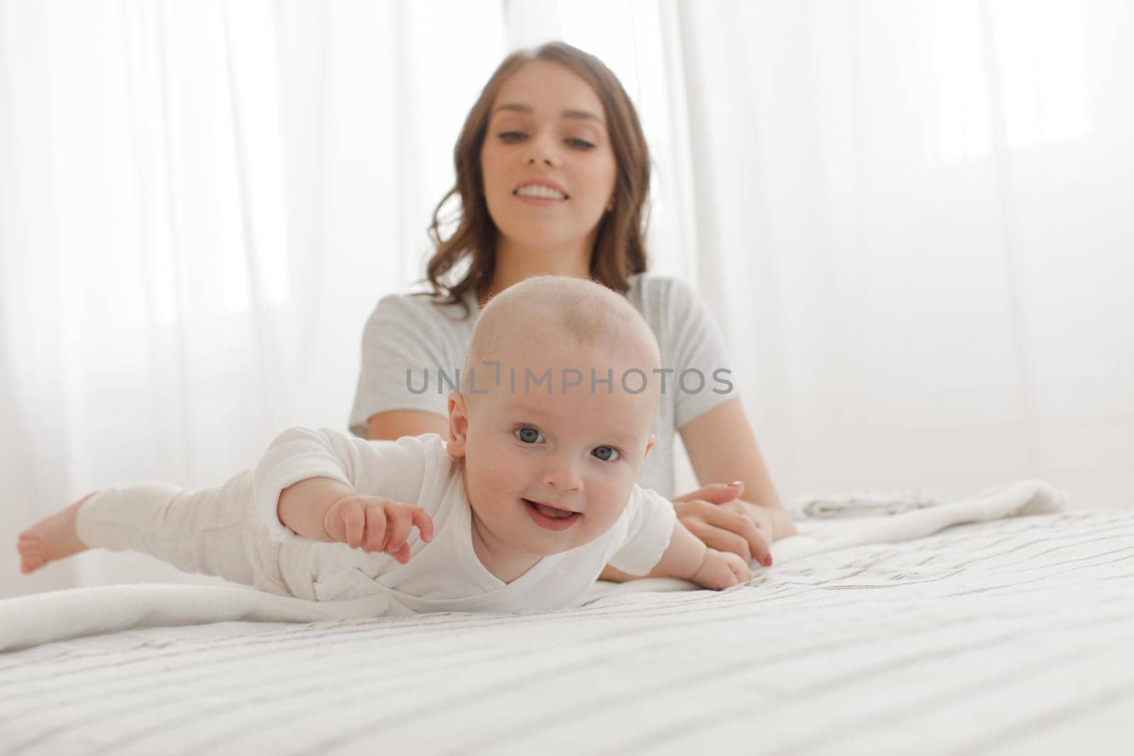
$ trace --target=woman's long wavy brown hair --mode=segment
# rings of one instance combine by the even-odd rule
[[[591,250],[591,278],[625,292],[629,288],[627,279],[646,270],[644,237],[649,222],[645,201],[650,193],[650,153],[634,103],[613,73],[590,53],[564,42],[518,50],[503,59],[468,111],[452,150],[457,184],[438,203],[429,228],[437,250],[425,266],[424,281],[432,287],[435,304],[459,304],[465,308],[465,317],[468,316],[465,295],[486,287],[496,271],[497,226],[484,199],[480,158],[492,103],[509,76],[536,60],[566,66],[582,77],[599,95],[606,111],[618,169],[613,209],[599,221]],[[442,238],[441,209],[454,196],[459,198],[460,209],[448,222],[456,220],[457,228],[451,236]]]

